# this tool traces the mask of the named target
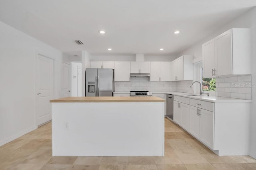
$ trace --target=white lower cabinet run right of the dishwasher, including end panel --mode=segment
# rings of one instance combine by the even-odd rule
[[[174,95],[173,111],[173,121],[217,155],[248,155],[250,101],[207,102]]]

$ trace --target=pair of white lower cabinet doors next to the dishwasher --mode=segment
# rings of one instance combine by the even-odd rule
[[[173,101],[173,120],[183,127],[185,130],[189,130],[189,105],[178,101]]]

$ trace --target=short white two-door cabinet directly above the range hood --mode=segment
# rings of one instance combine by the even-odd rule
[[[150,62],[131,61],[131,73],[150,73]]]

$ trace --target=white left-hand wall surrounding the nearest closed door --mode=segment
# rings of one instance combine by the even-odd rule
[[[0,146],[36,129],[36,52],[54,59],[61,96],[62,53],[0,21]]]

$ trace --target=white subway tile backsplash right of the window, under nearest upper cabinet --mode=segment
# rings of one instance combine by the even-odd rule
[[[251,100],[251,75],[216,78],[216,96]]]

